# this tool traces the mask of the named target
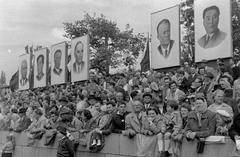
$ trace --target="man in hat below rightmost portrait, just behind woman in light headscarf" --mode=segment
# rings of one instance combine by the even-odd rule
[[[213,74],[210,72],[207,72],[204,75],[204,85],[203,85],[203,93],[207,96],[207,100],[210,103],[213,103],[213,89],[214,89],[214,85],[216,84],[213,81]]]

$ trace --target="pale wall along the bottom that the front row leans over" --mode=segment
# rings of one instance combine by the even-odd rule
[[[0,146],[6,142],[9,132],[0,132]],[[16,147],[13,157],[56,157],[59,138],[56,137],[52,146],[44,146],[45,135],[41,140],[27,146],[27,133],[14,133]],[[235,143],[225,137],[222,143],[206,142],[203,154],[196,154],[196,141],[183,140],[180,157],[233,157]],[[105,137],[105,146],[98,153],[91,153],[86,147],[79,145],[76,156],[82,157],[136,157],[136,138],[129,139],[120,134],[111,134]]]

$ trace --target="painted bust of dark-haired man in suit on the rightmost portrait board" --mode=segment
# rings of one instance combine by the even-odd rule
[[[227,34],[218,28],[220,10],[217,6],[210,6],[203,11],[203,26],[206,34],[198,40],[198,44],[204,48],[218,46]]]

